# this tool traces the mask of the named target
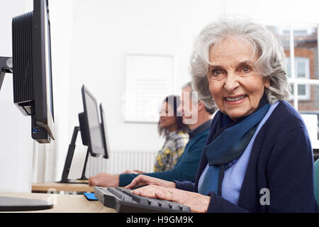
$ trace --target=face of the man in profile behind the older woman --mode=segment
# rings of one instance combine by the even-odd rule
[[[186,87],[181,92],[181,104],[177,111],[181,112],[184,124],[194,124],[198,118],[198,104],[191,99],[191,87]]]

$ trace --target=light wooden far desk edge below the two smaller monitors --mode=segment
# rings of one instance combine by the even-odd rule
[[[94,187],[89,187],[88,184],[32,183],[32,192],[47,192],[48,189],[55,189],[57,192],[94,192]]]

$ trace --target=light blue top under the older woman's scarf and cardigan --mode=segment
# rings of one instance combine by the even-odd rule
[[[240,189],[242,188],[242,182],[245,177],[248,161],[250,160],[250,153],[252,151],[254,139],[256,138],[260,128],[262,128],[262,126],[267,121],[267,119],[272,114],[272,112],[278,104],[279,101],[276,101],[276,103],[270,106],[266,116],[264,116],[262,121],[259,123],[259,126],[257,127],[257,130],[254,133],[254,135],[252,136],[252,140],[250,140],[250,143],[247,145],[247,148],[245,149],[244,153],[242,153],[242,155],[237,160],[237,162],[235,162],[234,165],[232,165],[229,169],[225,170],[223,183],[221,187],[221,195],[224,199],[232,202],[233,204],[238,204]],[[203,170],[201,177],[198,180],[198,189],[201,187],[201,184],[203,183],[203,179],[206,175],[207,170],[208,165],[206,166],[205,170]]]

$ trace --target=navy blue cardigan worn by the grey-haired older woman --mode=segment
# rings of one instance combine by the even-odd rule
[[[211,128],[214,123],[216,121],[212,122]],[[175,181],[176,187],[198,192],[198,179],[207,163],[206,155],[202,153],[195,183]],[[264,188],[269,189],[269,205],[260,202],[264,198],[261,191]],[[313,190],[310,139],[301,116],[288,102],[279,102],[256,136],[238,205],[214,192],[210,196],[208,212],[319,211]]]

